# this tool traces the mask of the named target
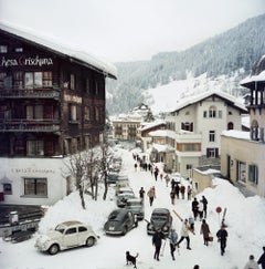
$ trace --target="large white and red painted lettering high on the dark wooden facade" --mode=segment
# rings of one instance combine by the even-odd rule
[[[36,56],[20,56],[19,59],[7,59],[2,56],[0,60],[0,66],[42,66],[42,65],[52,65],[52,58],[40,58]]]

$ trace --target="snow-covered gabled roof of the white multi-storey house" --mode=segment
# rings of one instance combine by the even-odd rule
[[[184,107],[187,107],[189,105],[195,104],[195,103],[201,102],[201,101],[209,99],[211,96],[218,96],[218,97],[224,100],[225,102],[227,102],[231,106],[240,110],[243,113],[247,113],[247,110],[246,110],[244,104],[240,103],[234,96],[232,96],[227,93],[221,92],[221,91],[208,91],[208,92],[204,92],[204,93],[200,93],[198,95],[193,95],[193,96],[189,96],[187,99],[183,99],[183,100],[181,100],[179,105],[177,105],[176,110],[172,111],[172,112],[178,112],[178,111],[183,110]]]

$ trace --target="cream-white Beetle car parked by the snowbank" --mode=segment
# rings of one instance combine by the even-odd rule
[[[80,246],[92,247],[98,238],[91,226],[71,220],[59,224],[54,230],[39,236],[35,241],[35,248],[40,251],[55,255],[60,250],[68,248]]]

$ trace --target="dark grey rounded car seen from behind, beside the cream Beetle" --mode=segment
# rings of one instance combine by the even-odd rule
[[[138,226],[138,220],[131,210],[119,208],[113,210],[104,225],[106,235],[125,236],[129,230]]]

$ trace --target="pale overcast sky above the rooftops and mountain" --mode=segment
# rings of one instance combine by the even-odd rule
[[[0,0],[0,21],[110,62],[180,51],[265,13],[265,0]]]

